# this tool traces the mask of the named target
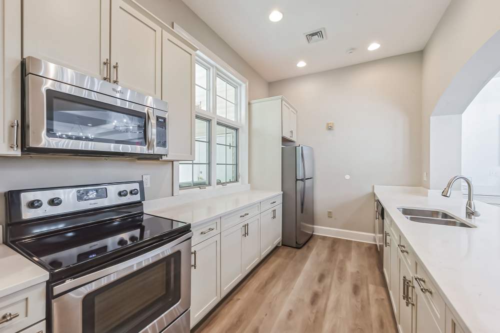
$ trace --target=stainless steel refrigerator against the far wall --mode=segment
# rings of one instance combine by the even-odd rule
[[[308,146],[281,147],[281,189],[283,191],[283,233],[281,244],[302,247],[312,236],[313,151]]]

